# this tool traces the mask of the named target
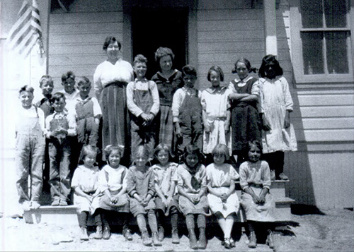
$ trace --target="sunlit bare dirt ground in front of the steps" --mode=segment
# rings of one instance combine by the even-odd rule
[[[353,251],[353,210],[326,210],[316,214],[292,215],[291,225],[275,232],[274,251]],[[23,219],[0,218],[1,251],[192,251],[185,230],[180,230],[181,244],[171,244],[171,237],[163,246],[143,246],[139,233],[133,241],[125,241],[120,230],[113,229],[110,240],[79,241],[76,225],[26,224]],[[208,244],[205,251],[227,251],[220,244],[221,229],[207,227]],[[134,231],[134,230],[133,230]],[[137,230],[135,230],[137,231]],[[236,248],[232,251],[272,251],[265,244],[248,248],[246,234],[234,234]],[[219,238],[218,238],[219,237]]]

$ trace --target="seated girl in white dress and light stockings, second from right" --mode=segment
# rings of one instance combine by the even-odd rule
[[[231,164],[225,163],[229,160],[229,149],[227,145],[219,143],[212,150],[214,163],[207,166],[207,200],[210,210],[217,215],[222,232],[224,232],[225,248],[235,246],[231,238],[232,226],[237,212],[239,212],[239,197],[235,191],[235,181],[239,174]]]

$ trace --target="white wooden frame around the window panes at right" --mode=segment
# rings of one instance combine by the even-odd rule
[[[296,83],[353,83],[353,27],[354,27],[354,0],[347,0],[348,13],[346,14],[346,28],[302,28],[302,14],[300,0],[290,0],[290,35],[291,35],[291,54],[292,65]],[[347,31],[350,36],[347,38],[347,56],[349,73],[321,73],[321,74],[304,74],[304,59],[302,54],[302,32],[337,32]],[[324,45],[325,46],[325,45]],[[326,57],[326,56],[325,56]],[[326,62],[326,59],[325,59]]]

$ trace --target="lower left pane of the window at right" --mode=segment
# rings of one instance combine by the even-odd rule
[[[302,32],[304,74],[324,73],[323,32]]]

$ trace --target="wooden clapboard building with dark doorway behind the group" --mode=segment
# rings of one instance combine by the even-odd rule
[[[295,102],[291,118],[299,148],[285,155],[288,196],[323,209],[353,208],[354,0],[38,2],[45,71],[57,89],[60,76],[69,70],[92,80],[96,66],[105,60],[102,45],[108,35],[122,41],[125,60],[147,56],[150,75],[157,69],[156,48],[171,47],[176,68],[187,63],[197,67],[200,90],[209,85],[206,76],[212,65],[222,67],[228,83],[236,59],[246,57],[259,68],[265,54],[277,55]],[[2,46],[21,4],[1,2]],[[36,71],[33,62],[25,66]],[[34,76],[40,75],[30,76],[37,87],[39,78]],[[17,88],[5,87],[12,94]],[[6,153],[13,148],[2,147]]]

